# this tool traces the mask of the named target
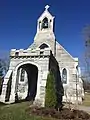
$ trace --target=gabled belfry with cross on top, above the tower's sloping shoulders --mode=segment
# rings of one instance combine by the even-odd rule
[[[49,5],[45,6],[45,10],[37,21],[37,32],[52,31],[54,17],[48,11]]]

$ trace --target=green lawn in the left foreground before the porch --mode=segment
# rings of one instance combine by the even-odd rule
[[[0,104],[0,120],[56,120],[52,118],[30,115],[29,112],[26,112],[29,105],[29,102],[11,105]]]

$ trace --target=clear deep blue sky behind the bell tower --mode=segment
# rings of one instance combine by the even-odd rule
[[[0,57],[33,42],[37,19],[46,4],[55,16],[57,41],[72,56],[81,57],[82,31],[90,24],[90,0],[0,0]]]

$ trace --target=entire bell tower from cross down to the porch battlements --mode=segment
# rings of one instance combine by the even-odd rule
[[[52,53],[55,55],[56,51],[56,41],[55,41],[55,35],[54,35],[54,17],[49,12],[49,5],[45,6],[44,12],[41,14],[41,16],[37,20],[37,31],[36,35],[34,37],[34,42],[32,46],[32,49],[40,48],[40,46],[44,45],[48,46]]]

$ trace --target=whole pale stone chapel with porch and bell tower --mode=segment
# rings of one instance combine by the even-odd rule
[[[10,66],[4,78],[0,101],[14,103],[19,100],[34,100],[34,104],[45,105],[47,75],[54,73],[58,93],[63,101],[75,103],[77,96],[81,104],[84,97],[78,58],[72,57],[56,40],[54,16],[45,6],[37,20],[37,31],[33,43],[27,49],[11,49]]]

